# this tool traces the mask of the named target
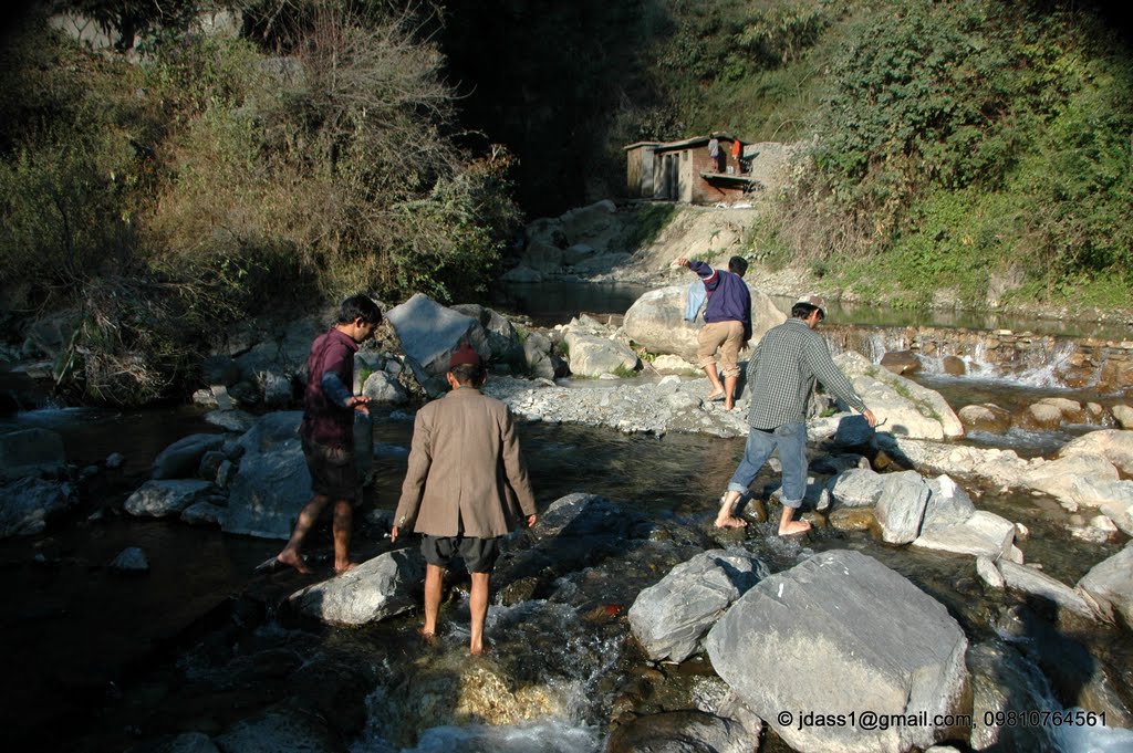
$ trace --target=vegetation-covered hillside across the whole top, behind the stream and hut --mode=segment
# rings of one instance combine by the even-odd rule
[[[49,3],[36,3],[46,6]],[[798,142],[747,254],[905,306],[1127,307],[1133,63],[1089,2],[61,0],[0,49],[9,332],[61,385],[169,394],[228,322],[367,290],[475,300],[622,146]],[[233,11],[203,34],[202,10]]]

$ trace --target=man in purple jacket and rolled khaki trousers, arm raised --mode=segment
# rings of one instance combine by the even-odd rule
[[[735,385],[740,380],[740,351],[751,340],[751,292],[743,282],[748,260],[733,256],[727,260],[727,272],[684,257],[676,259],[676,264],[696,272],[705,284],[708,302],[705,306],[705,326],[697,335],[697,358],[712,383],[708,400],[723,400],[724,410],[730,411],[735,403]],[[717,349],[721,351],[723,384],[716,370]]]

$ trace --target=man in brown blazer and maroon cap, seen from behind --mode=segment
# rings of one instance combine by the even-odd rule
[[[486,371],[467,343],[445,375],[452,391],[417,411],[409,469],[390,539],[402,529],[424,534],[426,638],[436,634],[444,572],[460,556],[472,577],[471,648],[484,652],[488,585],[499,539],[526,519],[535,525],[535,495],[508,407],[480,393]]]

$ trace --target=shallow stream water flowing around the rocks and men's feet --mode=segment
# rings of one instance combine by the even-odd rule
[[[574,313],[600,313],[602,300],[598,296],[576,306]],[[569,302],[555,307],[571,308]],[[562,311],[553,316],[561,320]],[[957,408],[985,401],[1012,408],[1067,394],[1041,379],[948,377],[931,366],[919,378]],[[14,741],[49,750],[122,751],[161,734],[218,735],[261,709],[298,698],[329,726],[344,730],[351,753],[593,753],[602,750],[610,722],[619,716],[710,705],[722,693],[704,661],[680,667],[646,662],[624,640],[623,616],[637,591],[671,566],[650,561],[650,546],[671,544],[664,531],[710,530],[716,498],[739,461],[742,439],[521,426],[540,505],[585,491],[619,500],[658,523],[637,551],[605,553],[559,579],[550,594],[494,604],[487,630],[492,656],[477,660],[466,656],[468,606],[459,584],[443,613],[446,632],[437,645],[420,644],[414,634],[416,616],[358,630],[327,628],[274,611],[279,599],[305,581],[290,573],[253,574],[279,542],[117,516],[116,503],[144,478],[161,448],[187,434],[214,430],[199,411],[42,408],[5,419],[0,431],[28,426],[59,431],[77,465],[100,462],[112,452],[122,453],[126,464],[122,478],[95,495],[104,510],[100,504],[82,511],[45,536],[0,542],[7,575],[0,635],[5,645],[19,647],[11,652],[10,698],[2,704],[9,718],[0,724],[12,730]],[[1049,455],[1091,428],[968,440]],[[368,521],[395,505],[411,431],[411,416],[403,412],[375,421],[378,472],[357,520],[358,554],[372,556],[386,546],[383,527]],[[753,488],[775,480],[765,470]],[[1020,547],[1028,562],[1066,583],[1124,545],[1125,537],[1101,544],[1075,538],[1068,532],[1068,514],[1048,499],[988,491],[976,503],[1025,524],[1030,537]],[[325,553],[327,538],[318,529],[312,550]],[[1087,665],[1104,671],[1125,694],[1125,703],[1131,702],[1133,639],[1126,631],[1080,625],[1056,631],[1055,639],[1042,638],[1026,627],[1030,613],[1023,600],[987,589],[969,557],[887,547],[868,532],[820,530],[804,544],[773,536],[769,524],[718,542],[758,554],[773,572],[816,550],[859,549],[942,601],[973,645],[995,645],[1019,657],[1038,688],[1036,702],[1048,708],[1076,702],[1064,684],[1048,682],[1049,662],[1060,660],[1051,656],[1074,651],[1084,651]],[[147,576],[107,571],[105,563],[127,546],[146,550],[152,564]],[[1039,745],[1133,750],[1133,741],[1119,729],[1073,734],[1085,737],[1049,730]],[[764,750],[786,748],[769,734]]]

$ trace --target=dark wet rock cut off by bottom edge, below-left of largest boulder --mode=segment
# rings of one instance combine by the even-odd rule
[[[742,725],[702,711],[667,711],[617,727],[606,753],[750,753],[758,737]]]

